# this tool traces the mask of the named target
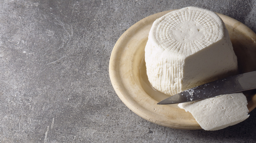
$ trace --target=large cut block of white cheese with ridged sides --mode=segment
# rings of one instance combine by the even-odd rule
[[[149,82],[167,95],[235,74],[238,68],[221,18],[195,7],[172,11],[153,23],[145,62]]]

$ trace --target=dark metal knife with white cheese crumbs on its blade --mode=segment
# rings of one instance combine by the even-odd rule
[[[223,94],[256,89],[256,71],[229,76],[175,94],[157,104],[175,104],[203,100]]]

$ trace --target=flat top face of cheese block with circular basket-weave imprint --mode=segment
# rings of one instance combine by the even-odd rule
[[[196,7],[172,11],[157,19],[149,40],[163,50],[189,56],[224,36],[224,23],[214,12]]]

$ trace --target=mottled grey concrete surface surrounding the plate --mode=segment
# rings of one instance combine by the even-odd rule
[[[255,142],[256,111],[219,131],[156,125],[129,110],[108,74],[111,51],[131,25],[197,6],[256,32],[256,0],[0,1],[0,141]]]

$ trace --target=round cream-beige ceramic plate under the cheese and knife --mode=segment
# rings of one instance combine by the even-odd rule
[[[177,104],[158,105],[169,96],[154,90],[147,79],[144,48],[149,30],[157,18],[170,11],[148,16],[121,35],[110,57],[111,83],[122,102],[140,117],[171,128],[201,129],[193,116]],[[240,73],[256,71],[256,34],[239,21],[217,14],[228,29]],[[255,93],[255,90],[245,93],[249,111],[256,107]]]

